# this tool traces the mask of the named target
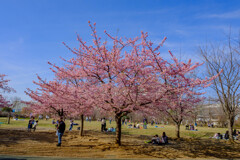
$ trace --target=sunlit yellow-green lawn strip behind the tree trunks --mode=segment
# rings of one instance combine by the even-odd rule
[[[11,119],[10,124],[7,124],[6,117],[0,117],[0,128],[16,128],[16,129],[27,129],[29,119],[20,119],[18,121]],[[52,119],[40,120],[37,129],[38,130],[54,130],[55,125],[51,124]],[[79,120],[75,120],[75,123],[80,124]],[[66,123],[66,130],[68,130],[70,122],[69,120],[65,121]],[[107,121],[107,128],[115,127],[116,124],[113,121],[112,124],[109,124]],[[130,134],[130,135],[162,135],[162,132],[166,132],[169,137],[175,137],[175,126],[174,125],[158,125],[162,128],[155,128],[154,126],[148,125],[148,129],[132,129],[127,128],[126,125],[122,126],[122,133],[123,134]],[[73,130],[76,130],[77,126],[73,127]],[[101,129],[101,122],[92,121],[92,122],[84,122],[84,129],[85,130],[94,130],[100,131]],[[185,130],[185,126],[181,126],[180,129],[180,136],[183,138],[209,138],[213,136],[215,133],[225,133],[227,128],[208,128],[208,127],[198,127],[198,131],[189,131]]]

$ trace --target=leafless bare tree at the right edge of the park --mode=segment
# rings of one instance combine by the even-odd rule
[[[205,61],[208,76],[223,72],[213,81],[212,89],[216,100],[223,108],[228,120],[230,140],[233,141],[234,119],[239,109],[240,98],[240,66],[239,45],[229,35],[227,43],[222,45],[206,45],[200,47]]]

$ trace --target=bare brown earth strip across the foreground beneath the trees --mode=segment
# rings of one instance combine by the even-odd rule
[[[124,135],[117,147],[115,135],[86,131],[66,132],[62,147],[56,147],[54,131],[29,133],[0,129],[0,154],[87,158],[240,158],[240,145],[221,140],[171,140],[169,145],[145,144],[148,136]]]

